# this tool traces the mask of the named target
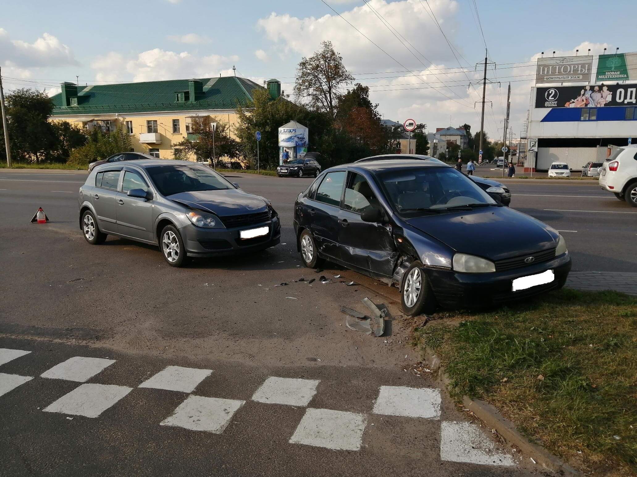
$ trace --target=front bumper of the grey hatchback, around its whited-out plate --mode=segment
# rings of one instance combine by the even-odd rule
[[[240,230],[268,226],[268,234],[254,239],[240,239]],[[206,229],[192,224],[180,228],[188,256],[216,257],[250,253],[274,247],[281,242],[281,222],[278,217],[268,222],[240,228]]]

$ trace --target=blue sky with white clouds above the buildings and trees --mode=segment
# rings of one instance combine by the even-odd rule
[[[0,62],[3,76],[18,79],[4,79],[5,86],[54,90],[61,80],[75,81],[76,74],[80,83],[89,84],[217,76],[232,74],[234,65],[237,74],[255,81],[280,78],[283,89],[291,92],[301,57],[310,55],[323,39],[331,39],[343,54],[345,65],[371,86],[372,98],[380,104],[385,118],[402,121],[412,116],[434,130],[447,126],[451,116],[454,125],[467,121],[478,130],[473,102],[479,93],[467,89],[469,79],[480,76],[468,71],[468,66],[484,56],[473,0],[371,0],[369,6],[363,0],[326,2],[395,60],[362,38],[320,0],[12,2],[2,6]],[[476,0],[475,4],[490,58],[498,64],[528,62],[489,73],[494,79],[496,74],[515,76],[508,79],[515,81],[512,126],[516,134],[526,116],[531,85],[520,79],[531,78],[522,75],[533,73],[534,55],[543,51],[550,56],[553,50],[570,53],[578,46],[580,54],[592,48],[597,55],[604,46],[609,52],[616,46],[620,52],[637,50],[634,1]],[[374,11],[413,45],[415,56]],[[457,48],[468,73],[459,71],[431,13]],[[404,70],[399,64],[424,79],[406,71],[381,74]],[[396,78],[379,78],[382,76]],[[430,83],[438,88],[429,87]],[[492,136],[501,134],[497,128],[503,116],[505,88],[506,84],[501,90],[497,86],[487,90],[493,109],[487,111],[485,128]]]

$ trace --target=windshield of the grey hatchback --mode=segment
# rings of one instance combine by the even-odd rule
[[[156,165],[147,167],[150,178],[162,195],[204,190],[230,189],[231,185],[217,172],[198,165]]]

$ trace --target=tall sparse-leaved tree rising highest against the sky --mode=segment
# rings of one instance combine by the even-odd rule
[[[322,41],[321,48],[310,58],[303,57],[296,69],[294,95],[306,101],[311,109],[329,113],[334,117],[337,99],[354,76],[343,65],[343,57],[331,41]]]

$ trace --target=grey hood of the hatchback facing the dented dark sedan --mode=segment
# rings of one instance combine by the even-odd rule
[[[169,200],[186,207],[204,209],[219,217],[252,214],[268,210],[266,200],[240,189],[180,192],[169,195]]]

